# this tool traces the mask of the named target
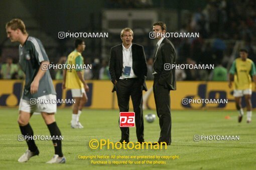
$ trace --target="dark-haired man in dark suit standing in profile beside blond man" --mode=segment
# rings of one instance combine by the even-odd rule
[[[176,63],[176,53],[172,42],[164,37],[166,32],[164,22],[154,23],[153,31],[158,41],[153,64],[153,92],[161,129],[159,140],[154,144],[166,142],[169,145],[171,144],[172,126],[170,90],[176,90],[175,69],[171,69],[171,64]]]

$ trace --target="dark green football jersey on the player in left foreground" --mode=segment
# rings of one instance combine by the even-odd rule
[[[42,69],[40,63],[49,61],[42,42],[35,37],[29,36],[24,45],[20,45],[19,55],[19,63],[26,74],[22,98],[30,100],[30,98],[37,98],[47,94],[56,94],[49,70],[45,72],[39,81],[38,91],[35,94],[30,93],[30,85],[38,70]]]

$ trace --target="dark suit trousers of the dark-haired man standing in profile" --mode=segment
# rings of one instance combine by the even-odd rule
[[[153,92],[155,97],[157,115],[159,117],[160,137],[158,141],[171,142],[171,98],[167,86],[159,84],[159,77],[154,75]]]

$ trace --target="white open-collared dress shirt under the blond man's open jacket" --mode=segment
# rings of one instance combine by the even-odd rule
[[[130,45],[129,48],[125,48],[122,44],[122,75],[119,77],[119,79],[124,79],[124,78],[136,78],[138,77],[135,75],[134,70],[133,70],[133,51],[132,51],[132,45]],[[131,72],[130,76],[124,76],[124,67],[125,66],[130,66],[131,67]]]

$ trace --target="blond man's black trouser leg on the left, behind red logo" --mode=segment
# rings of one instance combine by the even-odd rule
[[[130,89],[127,87],[124,80],[118,80],[115,84],[117,102],[120,112],[129,111],[129,100],[130,100]],[[120,119],[120,117],[119,117]],[[120,124],[118,119],[118,125]],[[121,129],[121,139],[129,141],[129,127],[120,127]]]

